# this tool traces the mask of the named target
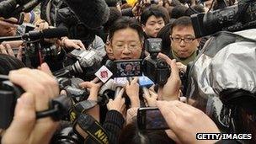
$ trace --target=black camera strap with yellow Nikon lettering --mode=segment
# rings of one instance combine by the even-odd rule
[[[77,120],[73,123],[73,130],[79,135],[75,129],[76,125],[79,125],[83,131],[88,133],[89,136],[85,141],[92,139],[99,144],[109,143],[107,132],[104,131],[104,128],[93,118],[93,116],[88,114],[81,114],[78,116]]]

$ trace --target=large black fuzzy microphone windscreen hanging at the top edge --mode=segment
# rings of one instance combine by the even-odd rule
[[[109,19],[109,7],[104,0],[64,0],[77,18],[88,28],[95,29]]]

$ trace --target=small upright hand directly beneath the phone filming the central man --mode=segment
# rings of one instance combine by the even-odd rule
[[[127,83],[125,86],[125,92],[131,100],[131,108],[140,107],[140,99],[139,99],[139,83],[138,77],[135,77],[131,83]]]

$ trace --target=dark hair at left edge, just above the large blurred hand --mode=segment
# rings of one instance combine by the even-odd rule
[[[14,56],[0,54],[0,74],[8,75],[11,70],[25,67],[24,63]]]

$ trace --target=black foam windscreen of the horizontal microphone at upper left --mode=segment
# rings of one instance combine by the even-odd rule
[[[59,38],[68,35],[66,28],[43,29],[42,33],[44,35],[43,37],[46,39]]]

